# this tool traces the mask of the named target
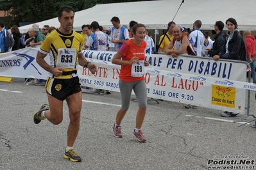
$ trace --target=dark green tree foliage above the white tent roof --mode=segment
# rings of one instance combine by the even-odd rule
[[[133,0],[0,0],[0,11],[4,11],[6,27],[19,26],[19,22],[40,22],[57,17],[60,6],[73,6],[80,11],[96,4],[123,3]]]

